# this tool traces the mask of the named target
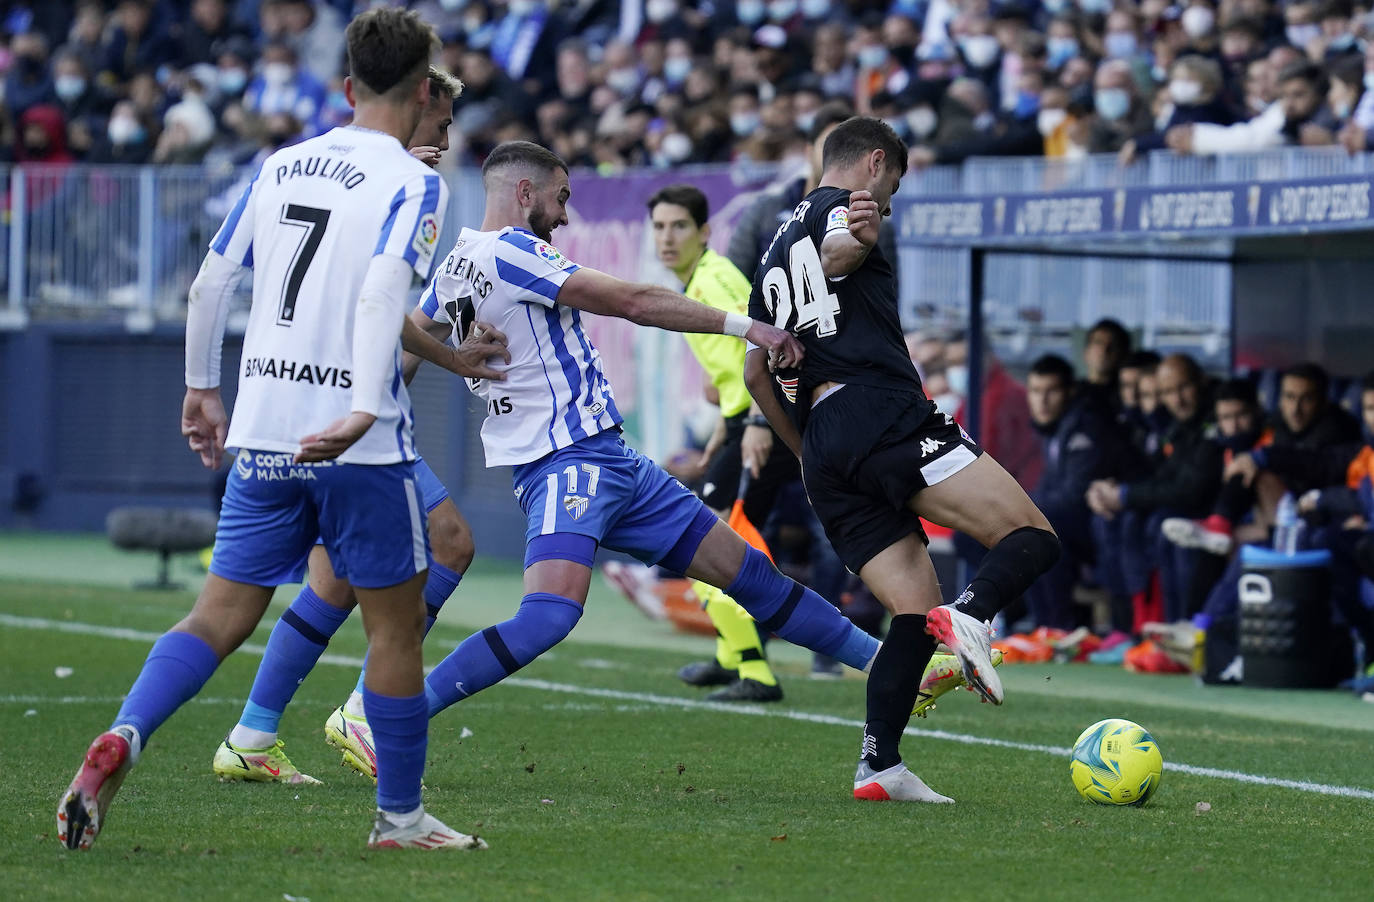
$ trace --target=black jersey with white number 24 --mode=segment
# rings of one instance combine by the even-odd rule
[[[874,248],[848,276],[826,278],[820,242],[830,231],[848,232],[848,223],[846,188],[820,187],[808,194],[774,235],[749,296],[750,318],[793,333],[807,351],[798,371],[778,378],[789,400],[796,395],[798,421],[811,406],[811,389],[823,382],[925,399],[901,336],[892,261]]]

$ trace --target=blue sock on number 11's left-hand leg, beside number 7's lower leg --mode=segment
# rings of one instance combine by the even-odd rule
[[[529,664],[562,642],[581,616],[583,606],[562,595],[525,595],[514,617],[463,639],[425,678],[430,716]]]

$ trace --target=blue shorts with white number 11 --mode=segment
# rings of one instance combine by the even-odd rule
[[[644,564],[658,564],[706,509],[618,432],[602,432],[522,463],[514,483],[515,500],[529,521],[526,543],[572,532]]]

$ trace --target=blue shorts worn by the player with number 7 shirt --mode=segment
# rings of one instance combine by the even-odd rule
[[[415,465],[293,463],[286,452],[240,451],[210,572],[251,586],[298,583],[316,538],[338,578],[361,588],[427,568]]]

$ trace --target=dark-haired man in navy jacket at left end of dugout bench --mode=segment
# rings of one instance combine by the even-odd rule
[[[1030,492],[1063,543],[1059,562],[1026,590],[1025,601],[1037,627],[1072,630],[1079,617],[1072,605],[1079,568],[1092,562],[1092,512],[1088,485],[1112,472],[1120,444],[1101,411],[1073,381],[1073,366],[1057,353],[1030,364],[1026,375],[1030,425],[1040,436],[1044,470]]]

